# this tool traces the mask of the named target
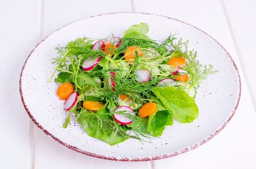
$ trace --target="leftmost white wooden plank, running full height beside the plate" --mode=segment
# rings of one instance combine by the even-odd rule
[[[32,168],[34,124],[20,99],[19,78],[23,63],[38,43],[39,6],[34,0],[2,1],[0,5],[2,168]]]

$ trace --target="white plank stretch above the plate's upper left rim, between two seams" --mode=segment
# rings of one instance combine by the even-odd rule
[[[130,0],[56,0],[45,2],[43,37],[74,21],[104,13],[132,12]],[[100,23],[99,23],[100,24]]]

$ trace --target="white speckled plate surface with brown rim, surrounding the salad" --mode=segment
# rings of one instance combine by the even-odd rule
[[[71,118],[70,125],[63,129],[67,113],[63,110],[64,101],[56,96],[58,84],[54,80],[47,84],[54,71],[51,58],[57,56],[54,48],[58,44],[64,47],[70,40],[83,36],[102,39],[113,33],[114,36],[121,37],[124,30],[140,22],[149,25],[147,35],[159,42],[171,32],[176,32],[177,39],[189,40],[189,47],[198,51],[198,60],[202,64],[212,64],[215,69],[220,70],[208,76],[197,91],[195,102],[199,108],[199,117],[189,124],[174,121],[173,126],[166,127],[161,138],[144,144],[136,139],[129,139],[110,146],[87,136],[74,117]],[[98,158],[144,161],[176,156],[213,138],[234,115],[240,99],[240,85],[236,64],[229,53],[200,29],[173,18],[153,14],[111,13],[73,22],[41,41],[22,68],[20,95],[29,117],[60,144]]]

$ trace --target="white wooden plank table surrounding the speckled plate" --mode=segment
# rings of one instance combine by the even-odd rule
[[[256,167],[255,0],[0,0],[0,168],[2,169],[251,169]],[[103,160],[72,151],[29,118],[19,92],[22,66],[49,33],[104,13],[154,13],[207,32],[240,73],[240,103],[228,125],[204,145],[155,161]]]

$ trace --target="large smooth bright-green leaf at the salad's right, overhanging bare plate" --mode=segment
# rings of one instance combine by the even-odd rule
[[[180,122],[193,122],[198,118],[199,111],[195,100],[185,91],[168,86],[155,87],[152,92]]]

